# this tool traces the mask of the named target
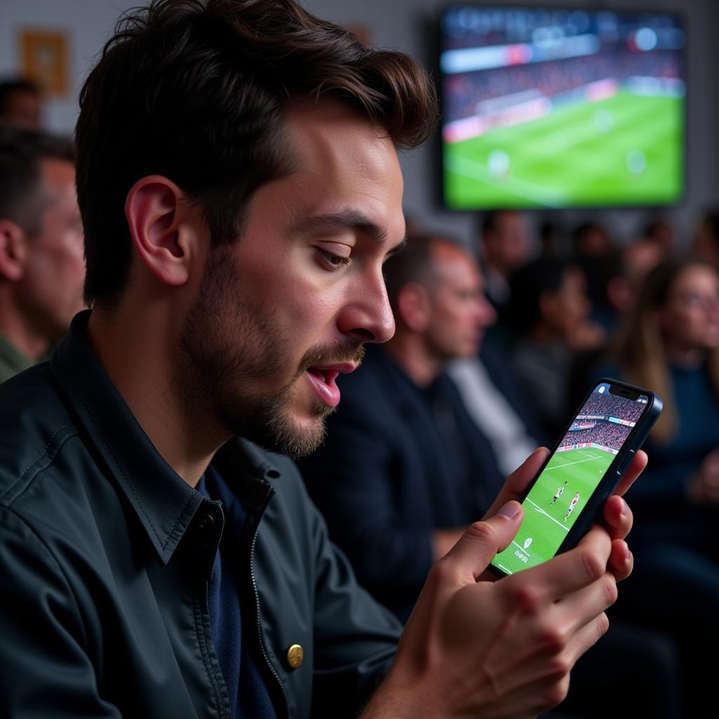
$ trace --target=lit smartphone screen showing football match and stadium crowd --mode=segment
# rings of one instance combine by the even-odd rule
[[[506,574],[534,567],[557,554],[587,500],[599,486],[649,398],[628,399],[597,385],[537,477],[522,506],[524,519],[507,549],[492,560]]]

